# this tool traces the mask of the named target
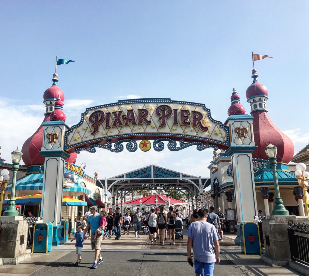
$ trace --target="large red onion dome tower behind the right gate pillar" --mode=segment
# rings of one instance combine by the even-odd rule
[[[258,74],[252,70],[253,82],[246,91],[247,102],[250,103],[250,114],[253,119],[253,135],[256,150],[252,158],[268,160],[265,147],[270,143],[277,147],[277,162],[289,163],[294,155],[294,145],[291,139],[275,126],[268,116],[266,101],[268,90],[256,80]]]

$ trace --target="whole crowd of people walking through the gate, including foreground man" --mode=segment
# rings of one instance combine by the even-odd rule
[[[209,209],[195,209],[191,217],[186,218],[188,263],[191,266],[194,265],[196,275],[203,275],[203,273],[212,275],[214,265],[220,262],[218,241],[223,238],[225,216],[220,207],[217,208],[217,213],[214,213],[214,210],[212,206]],[[167,240],[168,231],[169,245],[175,245],[176,222],[178,225],[183,224],[179,210],[169,207],[167,211],[164,206],[160,208],[151,207],[150,211],[145,214],[142,214],[140,209],[137,208],[135,213],[126,212],[124,216],[119,207],[114,212],[109,209],[108,212],[103,210],[98,213],[98,207],[92,206],[88,208],[84,215],[79,212],[74,221],[76,222],[76,232],[71,242],[76,241],[76,265],[78,266],[82,261],[81,253],[84,240],[90,238],[91,249],[95,250],[92,265],[94,269],[103,262],[100,251],[102,239],[105,239],[105,237],[112,238],[114,234],[115,239],[119,240],[122,230],[123,234],[129,233],[130,227],[133,226],[136,238],[140,238],[140,231],[143,231],[143,233],[149,233],[151,243],[157,242],[157,237],[159,237],[160,245],[163,246]],[[194,262],[191,255],[192,248]]]

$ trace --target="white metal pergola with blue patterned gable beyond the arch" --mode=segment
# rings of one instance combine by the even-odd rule
[[[174,170],[162,168],[156,165],[148,165],[140,169],[116,175],[111,178],[97,179],[97,186],[104,189],[105,210],[107,206],[107,194],[112,194],[112,209],[123,200],[126,194],[135,190],[179,190],[187,197],[188,210],[190,202],[192,209],[197,208],[197,197],[200,195],[201,207],[203,207],[203,190],[210,186],[210,178],[197,177],[183,174]]]

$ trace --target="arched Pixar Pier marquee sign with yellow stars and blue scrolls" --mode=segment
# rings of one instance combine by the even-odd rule
[[[126,148],[136,151],[135,140],[155,140],[157,151],[168,141],[170,150],[197,145],[198,150],[208,147],[228,148],[229,130],[214,120],[204,104],[179,102],[171,99],[132,99],[87,108],[81,121],[65,134],[68,152],[81,150],[95,152],[106,148],[113,152]],[[176,141],[180,141],[179,146]],[[114,143],[114,148],[112,148]]]

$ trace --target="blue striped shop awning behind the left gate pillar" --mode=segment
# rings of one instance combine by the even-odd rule
[[[43,174],[27,174],[22,178],[19,178],[16,181],[16,190],[22,191],[33,191],[33,190],[43,190]],[[12,183],[6,186],[5,192],[11,191]],[[63,188],[64,191],[67,192],[81,192],[85,194],[90,194],[91,191],[87,189],[85,186],[81,184],[74,183],[73,187],[71,188]]]

